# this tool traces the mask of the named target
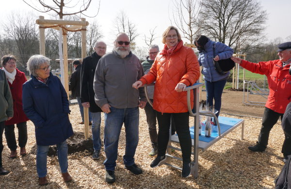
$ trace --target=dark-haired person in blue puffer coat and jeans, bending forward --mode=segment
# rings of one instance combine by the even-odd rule
[[[233,54],[232,48],[226,44],[220,42],[213,42],[204,35],[199,35],[195,39],[195,45],[199,51],[198,61],[200,66],[203,66],[202,74],[204,75],[205,87],[206,87],[206,103],[209,104],[210,109],[218,111],[216,116],[218,118],[221,108],[221,96],[223,88],[226,85],[226,79],[229,76],[229,72],[220,74],[214,69],[213,59],[215,61],[221,59],[230,58]],[[213,53],[213,47],[215,53]],[[215,120],[214,120],[214,124]]]

